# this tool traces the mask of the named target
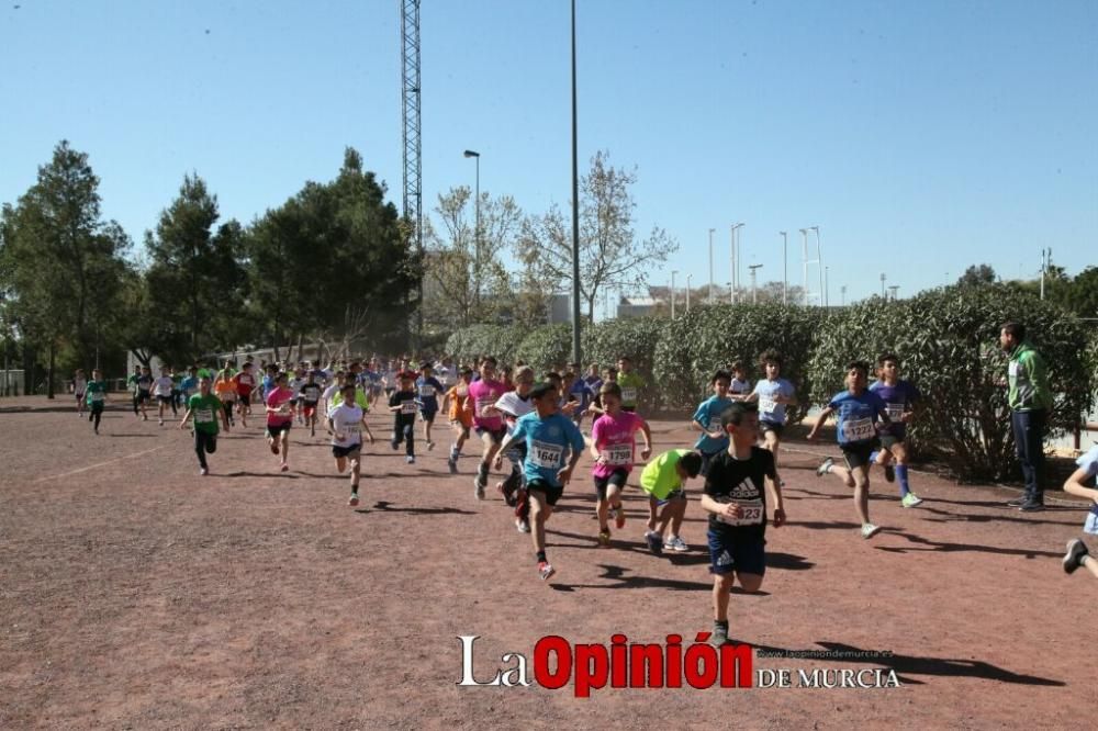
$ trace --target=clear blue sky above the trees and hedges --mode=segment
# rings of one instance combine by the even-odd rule
[[[15,5],[19,5],[16,9]],[[1098,2],[580,0],[581,168],[637,167],[638,233],[727,282],[729,227],[760,281],[777,232],[820,226],[830,300],[900,296],[971,263],[1034,277],[1098,261]],[[473,182],[529,213],[570,196],[569,2],[425,0],[425,209]],[[328,180],[346,145],[401,204],[397,0],[8,0],[0,201],[61,138],[135,241],[197,171],[247,223]],[[429,212],[429,211],[428,211]],[[747,271],[741,273],[748,281]]]

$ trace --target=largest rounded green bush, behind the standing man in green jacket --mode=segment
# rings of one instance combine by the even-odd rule
[[[1062,434],[1094,400],[1089,333],[1074,315],[1011,285],[944,288],[911,300],[874,299],[830,318],[809,363],[813,401],[826,404],[843,386],[853,359],[875,363],[894,352],[901,376],[923,394],[912,443],[944,461],[961,480],[1017,476],[1007,391],[1007,357],[998,345],[1008,320],[1026,325],[1049,364],[1056,402],[1050,415]]]

